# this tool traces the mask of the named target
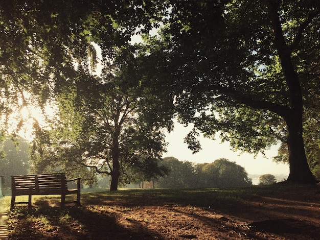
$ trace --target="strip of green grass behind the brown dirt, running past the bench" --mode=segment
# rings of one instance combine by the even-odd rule
[[[307,186],[307,188],[310,188]],[[313,188],[311,186],[311,188]],[[275,192],[299,191],[306,189],[304,185],[274,184],[269,186],[250,186],[243,188],[202,188],[202,189],[141,189],[120,188],[118,191],[101,190],[99,188],[81,190],[81,202],[86,205],[99,205],[105,201],[118,204],[181,204],[209,207],[211,205],[227,206],[237,199],[252,198],[257,195]],[[59,205],[61,196],[32,196],[33,205]],[[66,196],[66,200],[76,199],[75,195]],[[28,201],[28,196],[16,196],[16,202]],[[2,211],[10,209],[11,196],[0,199]]]

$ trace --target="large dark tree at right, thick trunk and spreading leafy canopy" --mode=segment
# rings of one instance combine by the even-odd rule
[[[146,57],[167,73],[182,123],[253,153],[286,141],[287,180],[314,184],[303,119],[319,93],[319,18],[317,1],[173,2]]]

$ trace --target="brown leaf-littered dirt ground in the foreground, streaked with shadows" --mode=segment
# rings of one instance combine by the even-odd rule
[[[214,203],[213,203],[214,205]],[[41,210],[41,219],[11,218],[10,239],[319,239],[320,188],[276,191],[240,198],[232,205],[199,207],[124,199],[83,202]],[[41,212],[43,211],[43,212]],[[10,233],[11,232],[11,233]]]

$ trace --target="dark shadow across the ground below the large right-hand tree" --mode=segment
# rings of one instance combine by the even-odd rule
[[[199,223],[210,223],[224,232],[239,234],[245,232],[247,237],[254,239],[265,239],[256,232],[277,234],[283,239],[318,239],[320,235],[319,193],[317,188],[306,188],[304,191],[281,191],[230,199],[227,204],[221,205],[213,202],[211,208],[206,208],[213,215],[226,215],[227,218],[217,219],[210,217],[210,214],[201,215],[184,211],[181,213],[189,215]],[[239,220],[244,225],[239,225]]]

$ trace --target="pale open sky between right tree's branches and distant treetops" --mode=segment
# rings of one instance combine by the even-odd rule
[[[243,166],[248,174],[272,174],[272,175],[289,175],[289,165],[284,163],[276,163],[272,161],[272,157],[277,156],[278,147],[273,146],[265,151],[265,157],[258,154],[255,158],[254,154],[234,152],[231,150],[228,142],[221,143],[217,137],[216,140],[204,138],[201,134],[198,140],[201,143],[202,150],[192,154],[184,143],[184,137],[191,131],[192,127],[184,127],[175,122],[174,130],[166,134],[166,141],[169,142],[167,153],[163,157],[175,157],[180,161],[190,161],[194,163],[211,163],[219,158],[226,158],[235,161]]]

